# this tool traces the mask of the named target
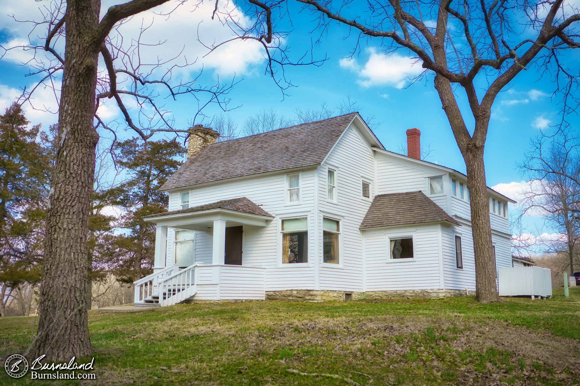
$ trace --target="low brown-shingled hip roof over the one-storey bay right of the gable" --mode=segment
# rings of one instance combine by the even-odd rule
[[[379,194],[372,200],[359,229],[447,221],[461,225],[439,205],[416,192]]]

